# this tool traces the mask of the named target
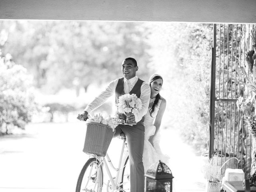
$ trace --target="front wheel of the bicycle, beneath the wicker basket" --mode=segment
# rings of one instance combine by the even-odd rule
[[[102,166],[96,158],[90,158],[82,168],[76,184],[76,192],[101,192],[103,186]]]

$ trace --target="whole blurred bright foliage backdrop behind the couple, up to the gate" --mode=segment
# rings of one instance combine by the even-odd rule
[[[162,128],[208,151],[212,25],[172,22],[0,21],[0,130],[76,120],[120,76],[126,57],[137,76],[164,78]],[[95,112],[111,114],[112,101]]]

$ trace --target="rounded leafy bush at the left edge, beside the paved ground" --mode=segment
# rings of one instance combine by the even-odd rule
[[[0,132],[9,133],[13,126],[25,128],[36,110],[32,78],[10,54],[0,58]]]

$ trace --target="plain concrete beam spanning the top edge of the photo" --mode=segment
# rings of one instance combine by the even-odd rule
[[[256,0],[0,0],[0,19],[256,23]]]

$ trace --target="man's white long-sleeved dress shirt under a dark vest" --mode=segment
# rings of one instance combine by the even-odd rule
[[[132,90],[132,88],[134,87],[137,81],[138,81],[137,76],[129,80],[130,82],[129,91]],[[92,110],[101,106],[110,96],[115,94],[117,83],[118,83],[118,78],[110,82],[110,84],[108,84],[106,89],[102,91],[96,98],[94,98],[92,102],[90,102],[86,106],[85,111],[90,113]],[[126,83],[126,78],[124,78],[124,90],[126,90],[126,86],[128,86],[128,84]],[[143,82],[140,87],[140,100],[142,102],[142,109],[138,112],[138,114],[134,114],[136,123],[139,122],[142,119],[142,117],[148,112],[149,99],[150,99],[150,86],[148,83]]]

